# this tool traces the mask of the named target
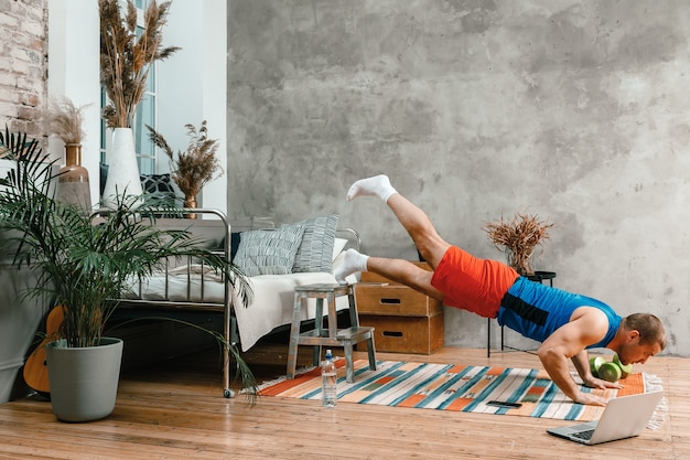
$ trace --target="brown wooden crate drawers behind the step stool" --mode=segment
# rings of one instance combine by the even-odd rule
[[[359,324],[375,328],[378,351],[431,354],[443,346],[440,301],[368,271],[355,285],[355,299]]]

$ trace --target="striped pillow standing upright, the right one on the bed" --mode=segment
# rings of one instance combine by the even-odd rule
[[[293,272],[333,270],[333,244],[339,214],[308,218],[295,225],[304,226],[302,244],[294,257]]]

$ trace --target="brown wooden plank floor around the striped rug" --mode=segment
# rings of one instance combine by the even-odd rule
[[[284,352],[271,347],[249,359],[257,374],[273,377],[284,373]],[[528,353],[487,359],[466,349],[378,357],[539,366]],[[122,375],[115,411],[99,421],[56,421],[50,403],[32,398],[0,405],[0,459],[690,459],[690,360],[655,357],[636,371],[662,378],[666,421],[638,438],[586,447],[547,435],[547,427],[569,424],[550,419],[345,403],[322,408],[276,397],[248,407],[241,397],[222,397],[216,356],[195,356]]]

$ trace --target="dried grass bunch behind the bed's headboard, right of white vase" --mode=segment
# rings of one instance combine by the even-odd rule
[[[223,174],[223,169],[216,158],[218,140],[208,139],[206,120],[202,121],[198,131],[191,124],[184,127],[190,136],[190,145],[185,151],[177,151],[175,156],[165,138],[147,125],[151,142],[163,150],[170,159],[172,179],[185,197],[195,197],[206,183]]]

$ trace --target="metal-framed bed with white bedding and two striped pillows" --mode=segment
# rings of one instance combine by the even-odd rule
[[[132,312],[177,310],[216,312],[223,315],[223,335],[242,352],[261,338],[292,322],[294,288],[336,282],[333,266],[349,247],[359,248],[360,238],[352,228],[337,226],[338,215],[330,214],[276,227],[266,220],[230,222],[217,210],[194,210],[198,218],[155,218],[162,228],[187,228],[208,248],[233,260],[248,276],[254,299],[247,308],[231,285],[194,260],[171,260],[163,270],[137,282],[125,293],[120,307]],[[356,282],[356,277],[348,279]],[[310,299],[302,320],[314,319],[315,299]],[[336,309],[348,309],[338,298]],[[144,313],[145,312],[145,313]],[[231,397],[229,353],[224,351],[224,396]]]

